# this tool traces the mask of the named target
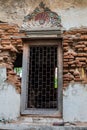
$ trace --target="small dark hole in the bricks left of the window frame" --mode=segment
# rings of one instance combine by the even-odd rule
[[[22,53],[17,53],[17,58],[14,62],[14,71],[20,77],[22,77],[22,55]]]

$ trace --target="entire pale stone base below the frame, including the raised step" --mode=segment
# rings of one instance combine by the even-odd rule
[[[63,122],[63,119],[21,117],[11,122],[0,122],[0,130],[87,130],[87,122]]]

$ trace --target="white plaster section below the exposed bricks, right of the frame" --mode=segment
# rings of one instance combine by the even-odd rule
[[[63,92],[65,122],[87,122],[87,85],[70,84]]]

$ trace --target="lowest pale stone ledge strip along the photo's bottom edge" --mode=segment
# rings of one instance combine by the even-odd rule
[[[52,126],[27,123],[0,123],[0,130],[87,130],[87,126]]]

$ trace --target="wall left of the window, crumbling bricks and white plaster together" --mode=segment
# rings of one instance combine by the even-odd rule
[[[14,72],[16,54],[22,52],[21,36],[15,24],[0,23],[0,121],[20,116],[20,77]]]

